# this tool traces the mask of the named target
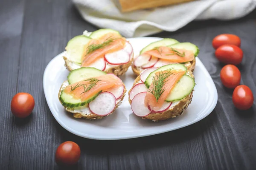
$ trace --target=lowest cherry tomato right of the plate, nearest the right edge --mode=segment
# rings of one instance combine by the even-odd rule
[[[239,85],[235,88],[232,100],[236,108],[247,110],[253,105],[253,92],[246,85]]]

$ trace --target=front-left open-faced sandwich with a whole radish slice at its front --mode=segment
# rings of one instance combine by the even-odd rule
[[[121,105],[125,85],[114,74],[82,67],[70,72],[61,85],[58,98],[75,118],[101,119]]]

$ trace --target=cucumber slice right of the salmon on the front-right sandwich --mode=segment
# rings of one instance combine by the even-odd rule
[[[195,79],[190,76],[184,75],[181,77],[180,81],[177,82],[175,87],[172,89],[169,96],[166,98],[166,102],[174,102],[181,100],[187,95],[189,95],[193,88],[195,87]]]

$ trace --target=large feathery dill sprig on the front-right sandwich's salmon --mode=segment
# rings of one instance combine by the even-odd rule
[[[168,72],[163,73],[162,71],[159,74],[155,74],[155,76],[153,77],[153,86],[152,88],[149,90],[149,92],[151,94],[154,95],[154,97],[156,98],[156,101],[158,102],[158,99],[160,98],[160,96],[163,94],[163,92],[165,91],[165,89],[163,88],[164,84],[167,81],[167,78],[173,74],[172,72],[172,68],[168,70]]]

